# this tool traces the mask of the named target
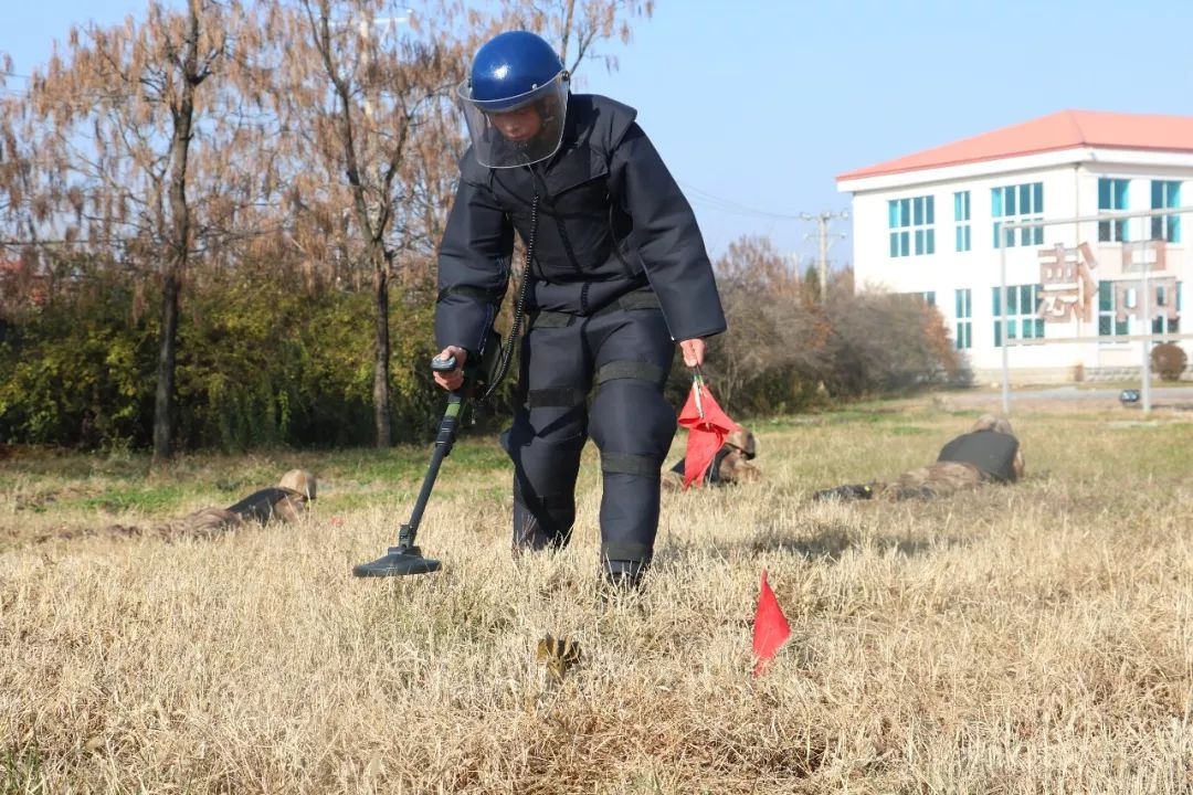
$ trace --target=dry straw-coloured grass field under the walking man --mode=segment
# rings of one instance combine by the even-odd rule
[[[927,464],[983,403],[755,426],[766,480],[665,495],[639,598],[574,545],[514,563],[490,439],[444,465],[444,570],[356,579],[429,447],[0,461],[4,793],[1193,791],[1193,412],[1013,404],[1027,478],[938,502],[811,503]],[[682,449],[676,440],[675,454]],[[119,534],[293,465],[296,527]],[[750,675],[762,569],[793,635]],[[536,659],[575,639],[562,679]]]

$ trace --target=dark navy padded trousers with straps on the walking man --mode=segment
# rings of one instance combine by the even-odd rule
[[[663,397],[675,344],[662,312],[532,316],[521,344],[521,406],[506,435],[514,462],[514,548],[562,548],[576,517],[580,455],[600,451],[601,559],[636,583],[654,554],[660,473],[675,434]],[[593,392],[589,404],[589,392]]]

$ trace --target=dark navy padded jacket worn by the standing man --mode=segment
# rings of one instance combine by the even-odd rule
[[[532,225],[527,312],[586,316],[653,290],[672,339],[725,330],[696,216],[636,114],[605,97],[573,94],[551,159],[490,169],[471,149],[464,154],[439,248],[440,348],[481,350],[508,286],[514,230],[528,241]]]

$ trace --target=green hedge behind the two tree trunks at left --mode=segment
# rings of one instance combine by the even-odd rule
[[[188,282],[180,304],[175,449],[371,446],[371,291],[296,288],[272,263]],[[153,442],[157,285],[87,271],[42,308],[0,317],[0,441],[81,449]],[[135,296],[143,294],[140,302]],[[425,441],[443,412],[427,362],[433,293],[395,288],[390,420]]]

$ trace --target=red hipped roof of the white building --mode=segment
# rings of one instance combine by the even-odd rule
[[[979,163],[1081,147],[1193,151],[1193,117],[1061,111],[839,175],[837,180]]]

